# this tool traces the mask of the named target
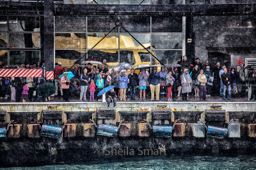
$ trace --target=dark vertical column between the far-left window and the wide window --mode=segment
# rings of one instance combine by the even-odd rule
[[[44,2],[44,62],[47,71],[54,70],[54,2]]]

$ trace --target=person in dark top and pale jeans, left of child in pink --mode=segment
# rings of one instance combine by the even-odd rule
[[[87,74],[87,69],[84,69],[84,73],[81,74],[81,77],[80,77],[80,89],[81,89],[80,101],[84,100],[85,102],[87,102],[86,92],[87,92],[87,89],[88,89],[89,81],[90,81],[90,78]]]

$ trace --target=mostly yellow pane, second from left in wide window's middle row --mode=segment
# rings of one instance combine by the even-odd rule
[[[88,34],[88,49],[95,46],[106,33],[90,33]],[[118,49],[118,34],[108,34],[93,49]]]

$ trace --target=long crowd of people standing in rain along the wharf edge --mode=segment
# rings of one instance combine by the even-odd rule
[[[207,101],[209,96],[220,96],[223,101],[231,101],[233,97],[249,97],[249,101],[255,101],[256,77],[254,69],[246,72],[246,67],[241,69],[235,67],[227,68],[205,64],[196,58],[195,62],[189,62],[186,56],[178,62],[177,67],[157,67],[152,69],[140,69],[140,73],[131,69],[109,69],[106,59],[100,66],[93,66],[88,63],[86,67],[74,66],[71,72],[74,77],[69,79],[68,74],[63,74],[65,68],[59,62],[54,69],[54,80],[56,91],[55,96],[63,96],[63,101],[69,101],[70,96],[79,97],[79,101],[102,101],[102,96],[97,96],[104,87],[113,85],[115,88],[106,93],[106,101],[127,101],[127,94],[130,101],[159,101],[163,96],[167,101],[176,101],[182,97],[182,101],[188,101],[188,97],[198,98],[199,101]],[[0,67],[4,67],[0,62]],[[19,67],[19,66],[15,66]],[[38,69],[44,68],[44,64],[22,64],[21,68]],[[48,80],[51,82],[51,80]],[[51,101],[50,97],[40,98],[37,87],[45,83],[44,78],[0,78],[1,99],[10,97],[11,101]],[[248,94],[248,96],[247,96]],[[78,100],[78,99],[77,99]]]

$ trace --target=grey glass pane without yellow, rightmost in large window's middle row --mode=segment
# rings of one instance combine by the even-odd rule
[[[151,39],[155,49],[182,49],[182,33],[152,34]]]

